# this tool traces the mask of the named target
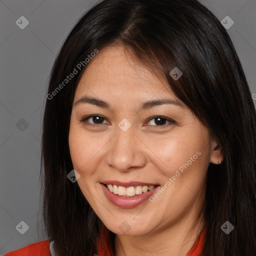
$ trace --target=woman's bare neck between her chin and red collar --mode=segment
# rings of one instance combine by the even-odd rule
[[[197,219],[195,214],[187,214],[175,224],[146,235],[116,235],[115,256],[185,256],[202,231],[203,224],[201,217]]]

